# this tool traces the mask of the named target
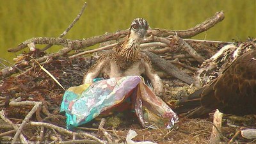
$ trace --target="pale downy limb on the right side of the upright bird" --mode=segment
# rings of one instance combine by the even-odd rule
[[[152,66],[148,63],[145,63],[145,74],[148,79],[150,79],[156,95],[162,97],[164,93],[163,83],[160,77],[157,76],[156,72],[152,69]]]

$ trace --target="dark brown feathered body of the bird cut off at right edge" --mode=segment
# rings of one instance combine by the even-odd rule
[[[179,100],[176,113],[188,118],[214,109],[237,116],[256,114],[256,50],[236,58],[216,79]]]

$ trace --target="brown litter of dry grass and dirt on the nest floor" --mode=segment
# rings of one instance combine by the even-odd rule
[[[74,60],[54,60],[52,63],[44,65],[51,74],[63,84],[64,88],[77,86],[81,84],[84,72],[90,67],[92,60],[88,58],[76,58]],[[164,101],[171,108],[175,108],[177,100],[195,91],[195,87],[182,83],[174,78],[163,78],[164,89],[166,95]],[[12,120],[14,124],[20,124],[24,117],[28,115],[33,106],[9,106],[8,103],[17,98],[22,101],[41,101],[43,106],[41,111],[34,115],[30,120],[34,122],[47,122],[65,128],[65,114],[58,113],[60,103],[63,97],[63,90],[56,84],[49,75],[47,75],[40,67],[20,74],[18,76],[4,79],[0,84],[0,109],[6,113],[6,117]],[[156,143],[209,143],[212,131],[212,115],[210,113],[206,118],[188,119],[179,116],[180,123],[175,125],[173,129],[145,129],[141,127],[138,119],[134,114],[113,113],[113,115],[103,116],[107,122],[104,129],[110,130],[108,133],[112,136],[116,143],[125,143],[125,138],[129,129],[133,129],[138,133],[134,141],[152,141]],[[3,121],[3,120],[1,120]],[[97,129],[99,127],[100,118],[95,118],[92,122],[81,125],[81,127],[90,127]],[[12,127],[4,122],[0,122],[0,131],[7,132]],[[221,141],[227,143],[239,129],[255,128],[256,119],[253,116],[230,116],[224,115],[221,127]],[[115,132],[113,132],[115,129]],[[25,127],[23,133],[27,140],[36,141],[40,135],[40,127]],[[78,132],[88,132],[106,140],[102,132],[93,130],[75,129]],[[3,141],[12,138],[15,132],[12,132],[2,138]],[[9,136],[9,137],[8,137]],[[81,138],[82,139],[82,138]],[[44,143],[56,141],[72,140],[72,136],[61,134],[54,129],[44,129],[42,141]],[[8,141],[8,140],[7,140]],[[256,143],[256,140],[246,140],[240,134],[235,138],[234,143]]]

